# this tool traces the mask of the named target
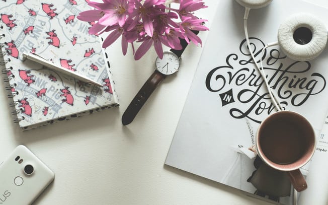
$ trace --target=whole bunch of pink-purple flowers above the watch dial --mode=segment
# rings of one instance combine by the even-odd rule
[[[162,58],[166,45],[176,50],[182,49],[179,38],[188,43],[201,44],[201,39],[192,31],[206,31],[206,20],[198,19],[194,12],[207,8],[202,0],[180,0],[179,9],[165,6],[165,0],[102,0],[103,3],[89,2],[95,10],[81,12],[77,19],[94,22],[90,34],[108,32],[103,47],[108,47],[121,37],[122,52],[125,55],[128,44],[133,49],[134,58],[140,59],[153,45]],[[134,42],[140,46],[134,52]]]

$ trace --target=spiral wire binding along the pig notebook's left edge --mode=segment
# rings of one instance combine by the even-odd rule
[[[4,29],[4,26],[0,26],[0,30]],[[0,33],[0,40],[2,40],[6,35],[4,33]],[[8,51],[2,51],[1,48],[5,47],[6,43],[0,43],[0,65],[6,65],[8,62],[10,62],[10,58],[9,58],[9,52]],[[8,56],[8,58],[7,58]],[[6,58],[5,58],[6,57]],[[3,75],[6,75],[6,77],[4,77],[4,81],[5,82],[10,82],[11,80],[13,80],[15,78],[15,75],[13,75],[13,73],[11,72],[13,70],[13,67],[4,67],[1,72]],[[15,90],[17,84],[13,83],[13,84],[9,84],[8,86],[5,87],[5,89],[7,91],[9,91],[8,94],[8,98],[13,99],[14,96],[17,96],[19,93],[18,91]],[[10,107],[16,107],[19,104],[19,100],[12,100],[12,102],[9,103]],[[19,114],[21,114],[23,112],[22,108],[19,109],[14,109],[12,111],[13,115],[17,115],[16,118],[14,118],[14,122],[15,123],[19,123],[21,120],[24,120],[25,117],[21,116]]]

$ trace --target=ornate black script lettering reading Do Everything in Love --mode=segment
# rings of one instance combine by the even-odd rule
[[[245,43],[245,40],[241,41],[239,53],[227,55],[225,65],[218,65],[209,71],[205,86],[210,92],[219,92],[222,102],[230,102],[234,96],[237,96],[236,100],[230,103],[231,117],[249,118],[260,123],[260,115],[275,112],[276,107],[271,102],[263,77],[255,69],[256,62],[251,58]],[[324,90],[326,86],[324,77],[318,73],[310,73],[311,64],[308,61],[293,61],[287,64],[284,61],[286,55],[275,48],[271,50],[267,48],[263,56],[260,56],[264,45],[260,39],[252,38],[251,49],[257,59],[260,57],[262,60],[267,59],[263,63],[265,77],[281,105],[301,106],[311,96]],[[233,89],[233,96],[225,94],[231,89]],[[247,106],[240,108],[239,105]]]

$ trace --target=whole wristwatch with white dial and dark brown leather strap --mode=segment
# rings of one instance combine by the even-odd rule
[[[192,31],[196,35],[199,31]],[[170,51],[163,52],[163,57],[155,60],[155,71],[143,84],[139,92],[133,98],[129,106],[122,115],[122,124],[130,124],[143,104],[147,101],[151,93],[155,90],[157,85],[167,76],[175,74],[179,70],[180,58],[183,51],[186,49],[188,43],[185,39],[180,38],[181,50],[170,49]]]

